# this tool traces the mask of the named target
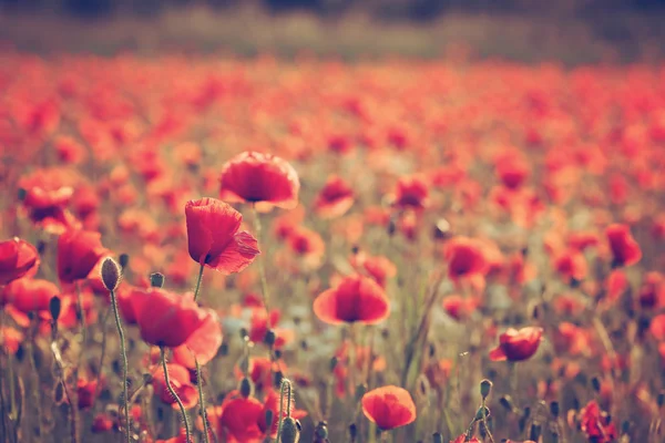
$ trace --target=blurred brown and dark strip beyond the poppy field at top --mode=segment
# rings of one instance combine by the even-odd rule
[[[0,0],[19,50],[659,60],[665,0]]]

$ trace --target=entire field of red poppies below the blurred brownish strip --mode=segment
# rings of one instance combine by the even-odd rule
[[[665,66],[0,53],[0,441],[665,441]]]

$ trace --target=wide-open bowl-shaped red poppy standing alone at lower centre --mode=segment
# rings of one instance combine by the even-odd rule
[[[375,324],[388,318],[389,302],[383,289],[372,279],[351,276],[319,295],[314,300],[314,313],[330,324]]]

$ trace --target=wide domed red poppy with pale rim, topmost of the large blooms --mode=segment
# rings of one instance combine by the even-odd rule
[[[227,202],[267,203],[285,209],[298,205],[298,174],[283,158],[244,152],[222,168],[221,198]]]

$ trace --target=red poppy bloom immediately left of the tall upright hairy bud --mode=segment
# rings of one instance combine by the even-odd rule
[[[102,246],[101,234],[85,230],[68,230],[58,239],[58,277],[72,284],[83,280],[108,254]]]

